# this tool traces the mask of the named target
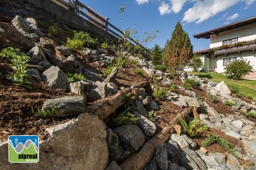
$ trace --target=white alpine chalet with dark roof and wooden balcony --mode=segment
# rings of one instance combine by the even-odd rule
[[[256,16],[193,37],[210,39],[209,49],[194,52],[201,54],[204,72],[215,68],[218,73],[223,73],[224,68],[236,59],[247,59],[256,71]]]

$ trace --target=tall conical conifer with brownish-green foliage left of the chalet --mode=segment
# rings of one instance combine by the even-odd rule
[[[172,38],[168,42],[163,54],[163,62],[173,78],[179,78],[179,72],[193,57],[193,46],[189,34],[182,29],[180,22],[177,22]]]

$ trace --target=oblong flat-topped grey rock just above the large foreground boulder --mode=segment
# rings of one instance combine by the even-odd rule
[[[84,104],[84,96],[65,96],[58,99],[48,99],[44,102],[42,111],[52,112],[52,109],[54,109],[54,116],[78,115],[84,113]]]

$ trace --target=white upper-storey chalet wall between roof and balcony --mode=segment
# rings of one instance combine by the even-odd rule
[[[233,28],[231,30],[213,34],[210,36],[210,48],[217,48],[222,45],[223,40],[238,37],[238,41],[250,41],[256,39],[256,23]]]

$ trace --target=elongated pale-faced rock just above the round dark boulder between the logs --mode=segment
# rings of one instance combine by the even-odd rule
[[[156,125],[140,113],[134,112],[134,115],[139,118],[139,124],[143,128],[145,135],[153,136],[157,129]]]

